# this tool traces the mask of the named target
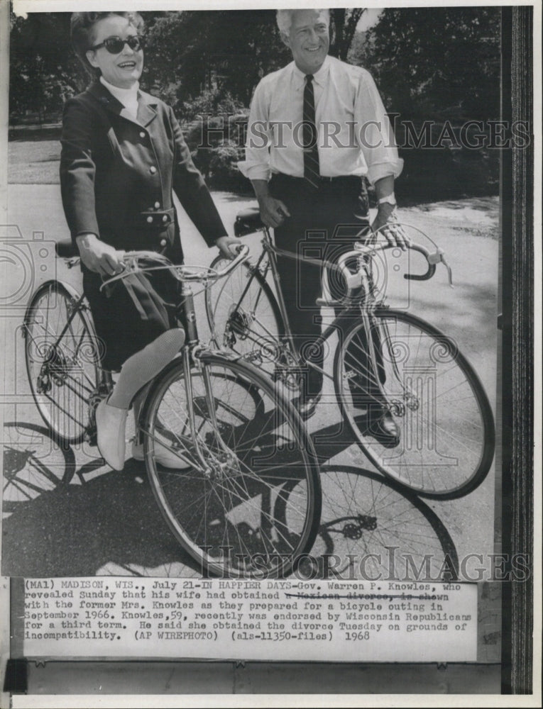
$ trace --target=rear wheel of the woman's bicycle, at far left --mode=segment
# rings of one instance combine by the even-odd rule
[[[82,442],[90,425],[89,396],[99,379],[99,341],[79,296],[46,281],[24,318],[26,372],[41,417],[57,442]]]

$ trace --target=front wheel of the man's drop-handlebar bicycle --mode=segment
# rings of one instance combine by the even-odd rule
[[[381,308],[370,322],[371,333],[363,321],[346,330],[334,363],[338,403],[358,445],[378,470],[422,496],[453,499],[473,491],[495,445],[492,410],[476,372],[455,342],[424,320]],[[368,381],[378,381],[379,393],[358,396],[358,383]],[[397,445],[375,436],[383,412],[400,432]]]

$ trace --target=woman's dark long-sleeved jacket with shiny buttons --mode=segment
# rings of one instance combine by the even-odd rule
[[[172,190],[208,245],[226,230],[170,106],[138,93],[138,120],[100,82],[65,104],[60,184],[72,238],[182,256]],[[163,239],[167,245],[163,245]]]

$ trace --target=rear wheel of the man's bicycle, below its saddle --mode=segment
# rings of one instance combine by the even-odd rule
[[[220,270],[229,259],[219,255],[211,267]],[[278,361],[278,344],[285,336],[285,323],[270,285],[248,263],[206,292],[206,313],[216,347],[239,354],[272,375]],[[253,276],[240,302],[246,281]]]

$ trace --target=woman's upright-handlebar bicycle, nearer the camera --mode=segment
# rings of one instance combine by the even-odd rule
[[[317,534],[321,491],[312,441],[290,401],[253,365],[199,341],[191,282],[228,277],[246,247],[220,272],[173,266],[180,281],[185,345],[148,386],[138,421],[155,500],[177,542],[214,576],[281,577],[295,569]],[[57,255],[79,263],[71,242]],[[148,252],[128,252],[124,272],[144,271]],[[146,261],[147,263],[147,261]],[[100,367],[84,296],[50,280],[38,287],[24,317],[26,368],[34,401],[55,440],[96,445],[94,412],[113,387]],[[179,468],[163,468],[155,445]]]

